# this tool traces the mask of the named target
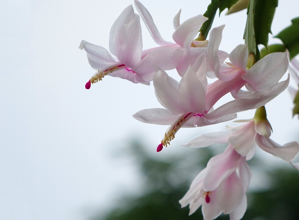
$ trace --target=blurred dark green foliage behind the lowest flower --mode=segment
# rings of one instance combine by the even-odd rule
[[[224,149],[225,145],[222,146]],[[221,146],[220,146],[221,148]],[[188,216],[189,208],[181,208],[178,200],[187,192],[192,179],[205,168],[213,156],[210,148],[189,149],[187,153],[157,159],[134,142],[130,153],[146,179],[145,193],[139,197],[124,197],[117,208],[99,214],[92,220],[183,220],[202,219],[201,208]],[[249,161],[257,166],[258,159]],[[262,168],[262,167],[261,167]],[[271,188],[247,193],[248,208],[244,220],[299,219],[299,174],[295,169],[276,169],[267,172]],[[221,215],[217,219],[229,219]]]

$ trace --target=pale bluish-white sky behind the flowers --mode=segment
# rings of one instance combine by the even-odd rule
[[[78,49],[81,40],[109,49],[110,28],[132,3],[0,2],[0,219],[82,219],[87,207],[104,210],[122,193],[140,189],[134,164],[112,157],[138,135],[155,152],[167,126],[143,124],[131,116],[145,108],[161,107],[153,86],[106,76],[86,90],[84,85],[95,71],[85,51]],[[172,20],[179,9],[183,22],[203,14],[210,1],[142,3],[161,36],[173,42]],[[298,8],[297,0],[279,0],[274,35],[298,17]],[[225,12],[220,19],[216,16],[213,27],[226,24],[220,49],[230,52],[244,43],[246,11],[230,16]],[[157,46],[142,21],[141,26],[143,48]],[[270,37],[269,43],[273,42],[279,40]],[[169,74],[179,80],[175,71]],[[266,108],[274,130],[271,138],[280,144],[295,140],[299,122],[297,117],[292,119],[287,91]],[[253,114],[254,110],[240,113],[238,118],[252,118]],[[184,150],[178,144],[224,126],[181,129],[172,145],[156,155]]]

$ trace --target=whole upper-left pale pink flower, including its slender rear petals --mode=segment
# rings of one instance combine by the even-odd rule
[[[171,43],[161,37],[147,9],[139,1],[135,1],[135,5],[154,41],[160,46],[142,51],[139,15],[134,13],[132,5],[128,6],[116,19],[110,31],[109,48],[117,58],[113,58],[105,48],[86,41],[82,41],[79,46],[87,52],[89,64],[97,69],[86,84],[87,89],[108,74],[149,85],[156,65],[163,70],[184,69],[186,62],[194,62],[199,54],[206,52],[206,48],[188,49],[198,32],[196,30],[207,20],[206,17],[198,15],[183,22],[173,33],[173,39],[177,43]],[[219,52],[219,56],[222,61],[227,57],[223,51]]]

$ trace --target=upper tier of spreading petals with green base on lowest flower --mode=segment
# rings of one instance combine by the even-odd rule
[[[256,111],[253,119],[236,122],[247,123],[237,127],[227,126],[227,131],[199,135],[183,145],[198,148],[216,143],[229,143],[240,155],[246,156],[247,160],[253,157],[257,146],[286,161],[291,161],[298,153],[298,142],[292,141],[281,146],[269,138],[272,128],[267,120],[264,106]]]

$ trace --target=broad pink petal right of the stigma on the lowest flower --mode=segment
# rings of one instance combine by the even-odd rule
[[[236,171],[219,186],[216,190],[216,196],[220,210],[224,214],[231,213],[240,205],[244,193],[241,180],[238,178]]]

